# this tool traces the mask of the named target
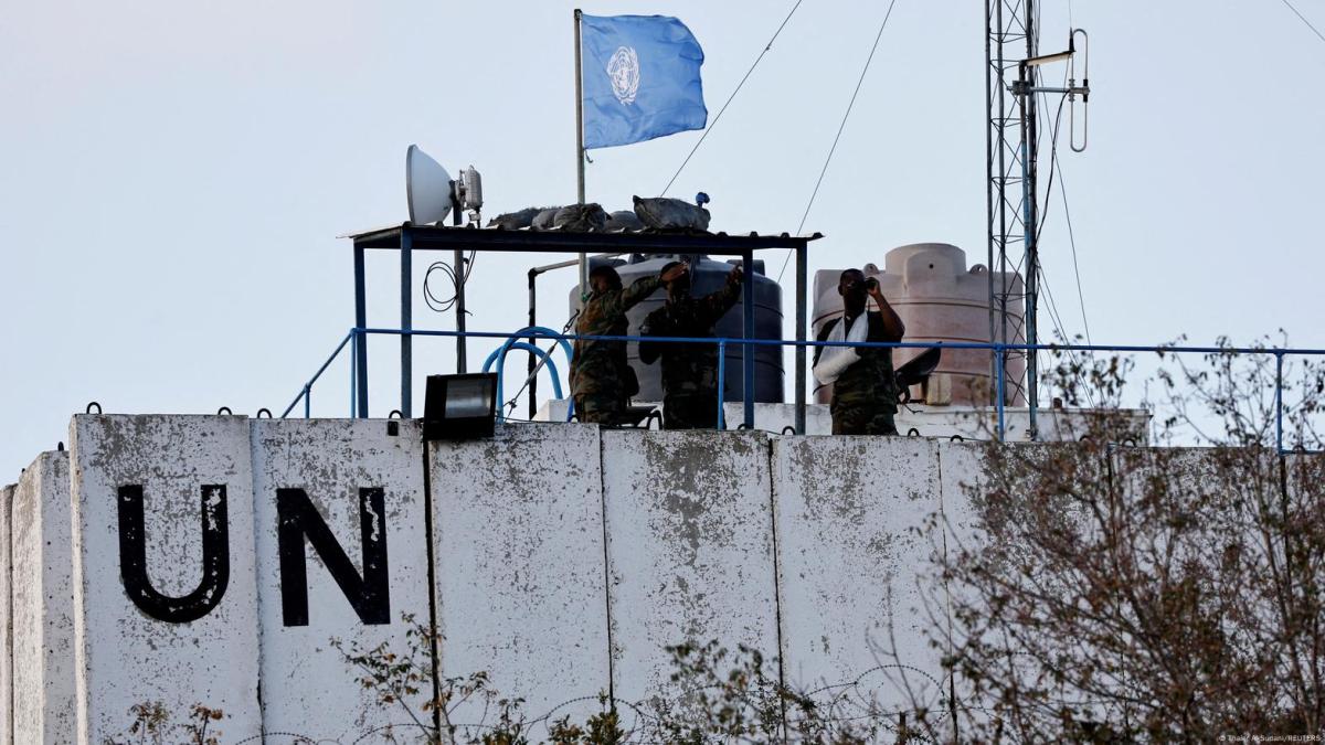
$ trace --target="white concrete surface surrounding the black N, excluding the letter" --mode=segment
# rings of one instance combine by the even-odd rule
[[[416,422],[398,422],[388,435],[382,420],[254,419],[252,430],[253,498],[257,514],[257,589],[262,624],[262,724],[266,732],[298,733],[314,741],[354,742],[359,737],[401,741],[424,734],[413,717],[431,724],[417,696],[382,705],[366,675],[337,650],[367,652],[379,644],[403,652],[408,614],[428,622],[428,544],[424,532],[423,441]],[[277,489],[303,489],[335,536],[354,570],[364,578],[360,489],[383,489],[384,514],[374,530],[384,532],[390,623],[364,623],[322,557],[299,540],[306,562],[307,623],[289,624],[282,607],[278,551]],[[370,500],[371,502],[371,500]],[[370,504],[370,514],[372,508]],[[427,648],[423,648],[427,652]],[[420,655],[431,671],[431,656]],[[269,737],[268,741],[272,741]]]

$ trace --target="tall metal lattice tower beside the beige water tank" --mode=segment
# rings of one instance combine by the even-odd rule
[[[1035,343],[1035,97],[1014,95],[1010,90],[1019,78],[1022,60],[1037,54],[1034,5],[1035,0],[984,3],[990,338],[1002,343],[1020,343],[1023,338]],[[1015,281],[1016,274],[1026,277],[1024,286]],[[1018,305],[1024,313],[1016,312]],[[1002,369],[1010,370],[1008,362],[1019,359],[1026,361],[1026,379],[1010,379],[1006,398],[1012,402],[1020,398],[1028,403],[1034,431],[1037,398],[1035,355],[1006,353]],[[991,380],[994,375],[996,370],[991,371]],[[991,386],[991,399],[996,390]]]

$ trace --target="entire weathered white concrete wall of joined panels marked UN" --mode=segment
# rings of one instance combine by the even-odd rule
[[[983,472],[982,445],[920,437],[535,424],[425,459],[411,422],[80,415],[73,430],[69,481],[44,455],[12,512],[13,619],[33,630],[4,659],[42,681],[21,681],[37,703],[12,709],[45,729],[30,741],[123,737],[152,701],[174,721],[221,709],[225,742],[413,741],[432,680],[476,672],[542,724],[583,718],[600,692],[666,692],[665,647],[688,640],[755,647],[841,716],[896,707],[902,671],[943,684],[926,632],[946,607],[917,583],[949,547],[913,529],[938,513],[969,533],[965,487]],[[217,534],[224,587],[220,565],[204,571]],[[61,607],[72,652],[54,643]],[[436,618],[440,668],[407,614]],[[380,704],[334,639],[412,658],[417,693]],[[482,718],[476,700],[452,721]]]

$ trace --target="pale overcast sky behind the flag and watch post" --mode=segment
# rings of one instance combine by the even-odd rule
[[[1325,1],[1295,4],[1325,28]],[[706,53],[710,121],[791,5],[583,4],[682,19]],[[107,412],[280,414],[352,325],[350,243],[335,236],[407,216],[409,143],[453,172],[477,166],[489,213],[572,201],[572,8],[9,3],[0,481],[66,440],[94,399]],[[885,8],[804,0],[672,194],[709,192],[714,229],[794,231]],[[1090,147],[1061,152],[1061,175],[1093,339],[1284,327],[1325,347],[1325,42],[1283,0],[1077,0],[1071,12],[1090,32]],[[1068,28],[1068,5],[1045,3],[1041,52]],[[897,0],[806,224],[828,236],[812,270],[881,265],[916,241],[984,261],[983,36],[978,0]],[[595,151],[588,198],[611,209],[657,194],[698,137]],[[1048,209],[1045,281],[1075,334],[1056,190]],[[394,260],[370,260],[370,323],[399,319]],[[529,265],[478,260],[472,329],[523,325]],[[543,277],[549,325],[564,321],[570,282]],[[423,302],[415,323],[452,327]],[[420,380],[450,371],[450,346],[416,345]],[[472,357],[492,345],[478,346]],[[396,406],[396,353],[380,339],[372,353],[380,415]],[[347,414],[343,361],[313,408]]]

